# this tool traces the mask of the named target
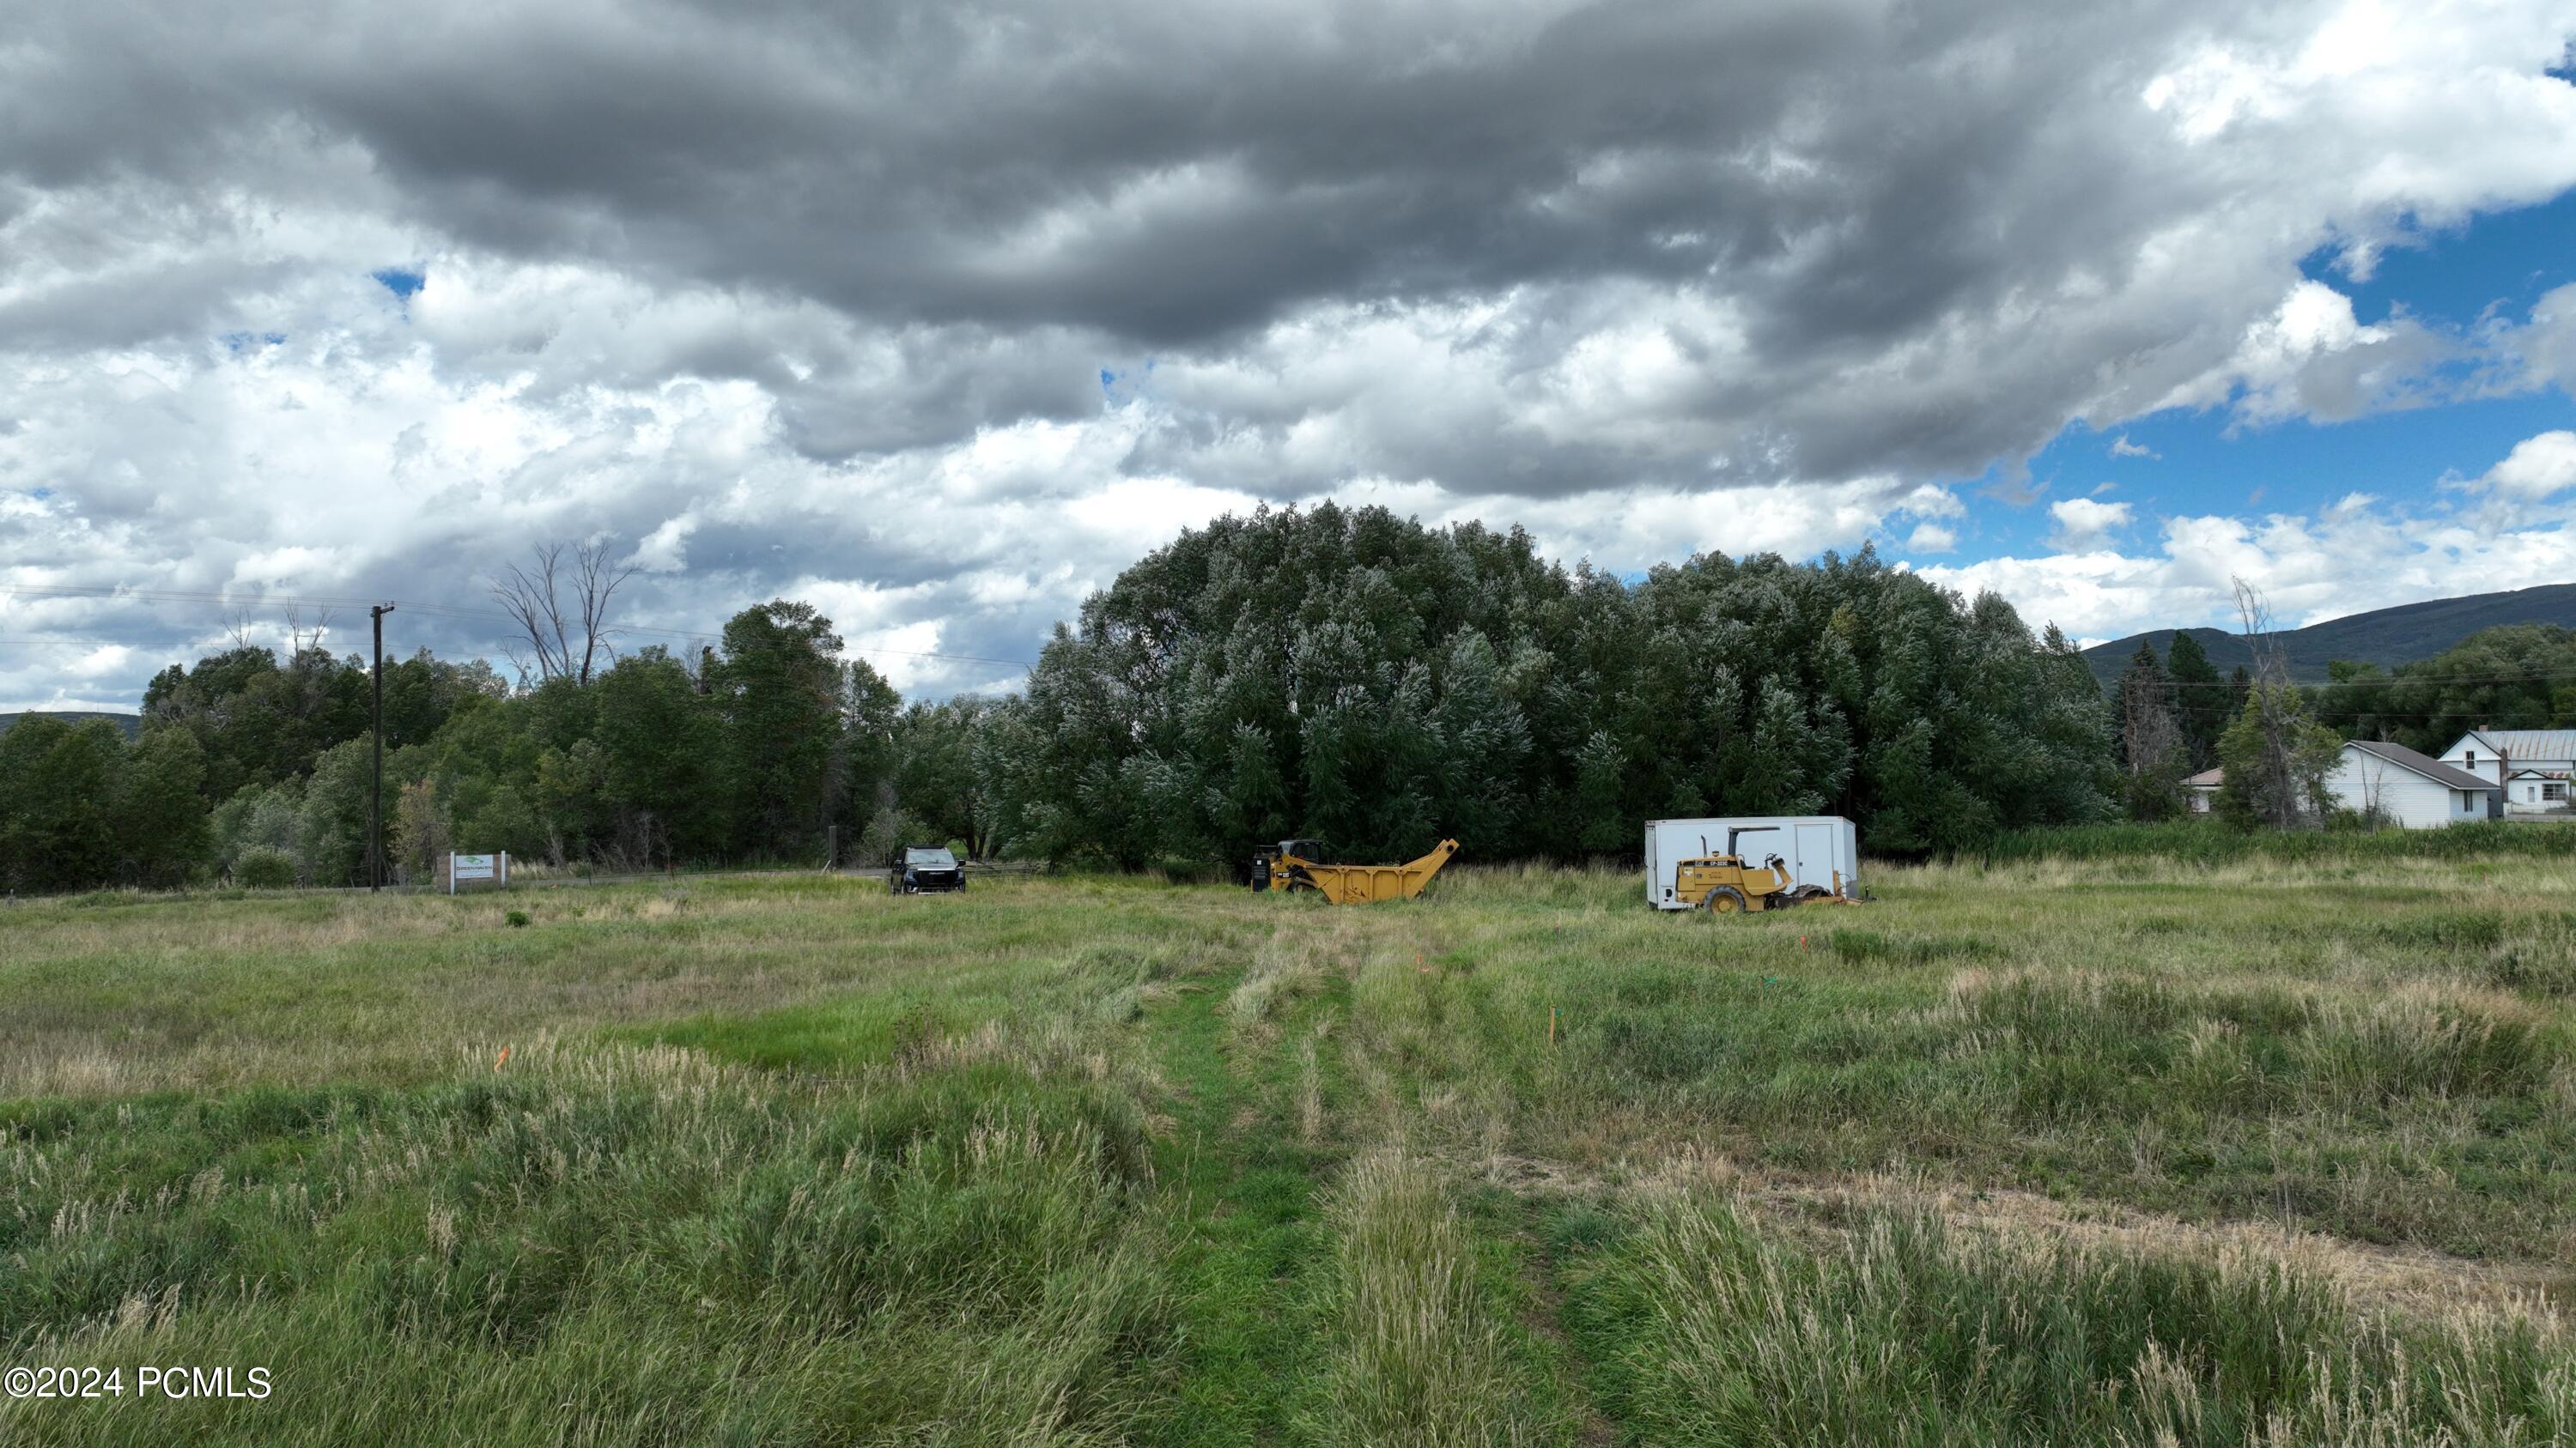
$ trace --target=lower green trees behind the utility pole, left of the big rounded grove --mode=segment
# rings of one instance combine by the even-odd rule
[[[662,868],[819,861],[850,837],[935,827],[886,806],[904,711],[832,624],[765,603],[696,660],[649,647],[513,688],[428,649],[384,670],[384,843],[397,879],[446,850]],[[0,734],[10,889],[363,884],[374,734],[366,660],[234,647],[173,665],[129,747],[108,721]],[[935,799],[935,791],[925,791]],[[889,845],[891,848],[891,845]]]

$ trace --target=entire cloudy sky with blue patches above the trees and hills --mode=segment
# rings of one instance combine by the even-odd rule
[[[131,709],[278,598],[495,654],[469,613],[541,538],[644,569],[629,642],[796,595],[907,693],[1007,688],[1136,554],[1324,497],[1615,572],[1870,541],[2087,639],[2221,621],[2231,575],[2287,624],[2568,582],[2571,36],[36,0],[0,709]]]

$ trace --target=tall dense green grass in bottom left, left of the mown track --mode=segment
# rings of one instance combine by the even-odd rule
[[[1170,1332],[1141,1118],[1087,1082],[536,1051],[0,1136],[5,1358],[268,1366],[268,1402],[188,1407],[216,1438],[1115,1440]],[[10,1443],[170,1433],[0,1402]]]

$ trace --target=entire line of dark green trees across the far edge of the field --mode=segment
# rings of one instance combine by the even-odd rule
[[[580,603],[533,608],[546,667],[386,665],[399,879],[451,848],[662,868],[822,863],[837,843],[876,866],[948,840],[1206,868],[1280,837],[1396,861],[1453,835],[1479,858],[1577,858],[1692,814],[1847,814],[1873,853],[1937,853],[2172,814],[2197,768],[2313,757],[2367,719],[2555,721],[2558,696],[2455,691],[2576,654],[2566,631],[2491,631],[2298,691],[2221,678],[2177,634],[2105,698],[2056,626],[1870,549],[1618,577],[1517,528],[1324,505],[1221,518],[1139,559],[1056,626],[1020,693],[907,703],[793,600],[744,608],[693,654],[595,652],[603,595],[587,564],[564,572]],[[131,745],[26,719],[0,734],[0,879],[363,884],[368,696],[358,657],[245,644],[155,678]],[[2447,724],[2406,739],[2427,729]],[[2264,776],[2239,773],[2249,791]]]

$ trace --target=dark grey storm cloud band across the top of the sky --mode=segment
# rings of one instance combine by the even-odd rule
[[[2184,28],[1963,5],[219,15],[59,10],[57,64],[15,75],[10,170],[260,186],[301,129],[477,245],[1164,348],[1316,299],[1595,276],[1741,294],[1767,345],[1868,345],[2123,240],[2136,178],[2063,134],[2066,100],[2136,93],[2161,59],[2138,28]]]

